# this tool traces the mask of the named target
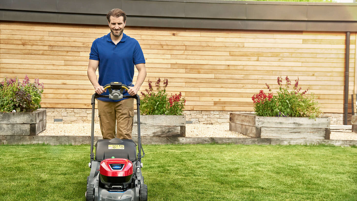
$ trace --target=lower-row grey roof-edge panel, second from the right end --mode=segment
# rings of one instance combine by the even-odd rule
[[[248,30],[306,30],[306,21],[247,20]]]

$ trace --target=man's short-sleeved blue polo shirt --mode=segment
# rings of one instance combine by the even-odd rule
[[[99,61],[99,79],[101,86],[110,82],[122,82],[127,86],[132,84],[134,77],[134,65],[145,64],[139,42],[123,33],[123,37],[118,42],[110,38],[110,33],[93,41],[89,54],[89,59]],[[101,95],[109,95],[109,91]],[[129,95],[126,91],[123,95]],[[121,100],[111,100],[109,98],[98,98],[101,101],[117,102]]]

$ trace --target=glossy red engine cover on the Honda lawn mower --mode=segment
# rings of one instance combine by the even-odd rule
[[[109,177],[123,177],[133,174],[133,164],[127,159],[105,159],[100,162],[100,174]]]

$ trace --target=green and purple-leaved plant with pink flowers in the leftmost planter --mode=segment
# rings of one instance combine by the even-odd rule
[[[0,83],[0,112],[30,112],[39,109],[43,89],[43,83],[40,84],[39,79],[30,83],[27,75],[22,83],[17,77],[5,78]]]

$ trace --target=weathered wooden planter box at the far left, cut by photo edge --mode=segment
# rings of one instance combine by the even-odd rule
[[[45,129],[46,109],[0,113],[0,135],[37,135]]]

